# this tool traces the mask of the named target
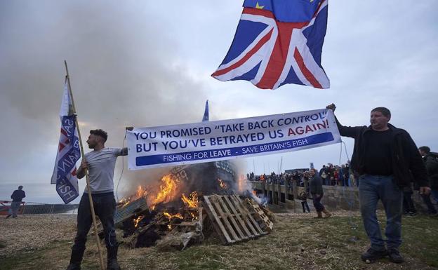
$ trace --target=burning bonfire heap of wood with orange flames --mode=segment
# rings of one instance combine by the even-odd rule
[[[235,195],[237,189],[239,194],[243,194],[246,186],[242,177],[237,178],[232,166],[220,161],[175,167],[171,173],[161,177],[156,185],[139,185],[134,196],[120,202],[123,203],[120,208],[133,208],[133,198],[147,201],[149,208],[125,211],[124,242],[131,247],[159,245],[159,249],[170,246],[181,249],[189,242],[199,243],[204,239],[204,221],[208,218],[205,208],[202,207],[203,203],[208,203],[205,207],[209,208],[207,231],[210,228],[212,231],[213,225],[237,229],[239,236],[225,242],[232,243],[263,235],[265,232],[261,231],[250,212]],[[206,194],[221,195],[210,198]],[[130,216],[127,217],[128,213]],[[227,219],[232,223],[228,224]],[[233,231],[229,233],[234,234]],[[218,231],[218,234],[223,232]]]

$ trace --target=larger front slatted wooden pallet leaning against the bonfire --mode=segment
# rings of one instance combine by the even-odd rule
[[[224,244],[267,234],[236,195],[204,196],[204,209]]]

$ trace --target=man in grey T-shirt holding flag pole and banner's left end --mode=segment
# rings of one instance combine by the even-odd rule
[[[85,154],[82,158],[81,166],[77,170],[79,179],[85,176],[88,170],[91,196],[95,214],[98,215],[102,223],[107,245],[107,269],[120,270],[117,263],[117,243],[116,231],[114,227],[114,213],[116,201],[114,199],[114,166],[117,156],[126,156],[127,148],[105,148],[107,133],[101,129],[90,130],[88,136],[88,148],[93,151]],[[84,257],[85,243],[90,231],[93,220],[91,217],[90,201],[88,200],[88,189],[86,187],[79,203],[77,215],[77,234],[72,246],[72,255],[67,270],[81,269],[82,257]]]

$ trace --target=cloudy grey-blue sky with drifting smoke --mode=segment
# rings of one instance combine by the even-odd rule
[[[242,1],[0,1],[0,200],[22,184],[27,201],[60,203],[50,183],[67,60],[84,140],[107,130],[121,147],[125,126],[161,126],[319,109],[336,103],[345,125],[369,123],[373,107],[418,146],[438,151],[434,107],[438,2],[329,1],[322,65],[327,90],[286,85],[260,90],[211,78],[232,42]],[[352,154],[352,140],[345,139]],[[86,149],[88,151],[88,149]],[[277,172],[310,161],[338,163],[339,144],[244,159]],[[341,162],[345,163],[345,154]],[[124,160],[126,168],[126,159]],[[119,158],[114,181],[119,180]],[[161,171],[124,170],[119,192]],[[84,180],[79,180],[84,189]],[[119,196],[121,196],[119,194]]]

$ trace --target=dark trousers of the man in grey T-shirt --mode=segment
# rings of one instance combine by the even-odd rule
[[[116,200],[114,194],[93,194],[93,206],[95,215],[102,222],[103,232],[105,233],[105,243],[107,248],[117,246],[116,231],[114,227],[114,212],[116,210]],[[74,238],[73,250],[84,250],[88,231],[93,224],[91,217],[90,201],[88,194],[84,193],[79,203],[77,216],[77,233]]]

